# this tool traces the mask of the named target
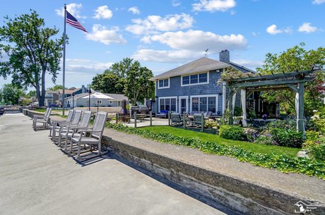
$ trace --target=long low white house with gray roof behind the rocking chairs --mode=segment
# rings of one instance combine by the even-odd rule
[[[92,90],[95,93],[95,90]],[[88,93],[76,94],[74,97],[66,98],[66,102],[70,107],[88,107],[89,97]],[[104,107],[104,106],[122,106],[122,101],[126,100],[126,104],[129,104],[129,99],[124,94],[106,94],[113,99],[90,99],[90,107]],[[73,99],[73,101],[72,101]]]

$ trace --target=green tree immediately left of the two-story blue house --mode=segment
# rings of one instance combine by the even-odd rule
[[[132,104],[150,99],[155,94],[155,84],[149,79],[153,78],[153,72],[146,67],[141,67],[135,61],[126,75],[124,94],[131,100]]]

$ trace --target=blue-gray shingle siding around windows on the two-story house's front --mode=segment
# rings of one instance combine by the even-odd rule
[[[220,73],[215,70],[209,72],[209,83],[203,85],[189,85],[181,86],[182,78],[181,76],[176,76],[170,78],[170,87],[165,89],[158,89],[158,82],[156,84],[156,101],[157,101],[157,111],[159,113],[159,98],[160,97],[184,97],[184,96],[193,96],[193,95],[208,95],[208,94],[219,94],[222,93],[222,86],[217,84],[218,79],[220,78]],[[218,111],[221,111],[223,106],[223,97],[218,95]],[[177,104],[177,109],[179,105]]]

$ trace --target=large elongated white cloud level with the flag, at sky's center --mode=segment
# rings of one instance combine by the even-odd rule
[[[194,19],[185,14],[161,16],[148,16],[146,19],[132,20],[134,25],[129,25],[126,30],[135,35],[158,33],[159,31],[170,31],[189,28],[193,25]]]

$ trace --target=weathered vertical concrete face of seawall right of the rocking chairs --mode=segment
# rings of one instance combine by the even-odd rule
[[[297,210],[293,202],[310,202],[304,197],[208,171],[110,137],[104,136],[102,143],[104,148],[122,159],[242,214],[293,214]],[[325,214],[325,207],[319,206],[308,214]]]

